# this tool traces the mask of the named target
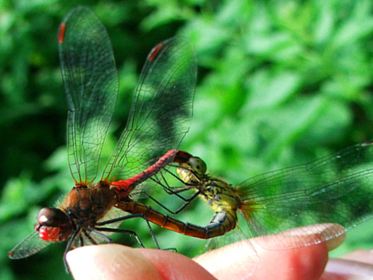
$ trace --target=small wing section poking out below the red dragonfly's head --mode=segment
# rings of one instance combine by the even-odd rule
[[[36,254],[50,244],[51,242],[39,238],[39,232],[33,231],[10,250],[8,257],[13,260],[23,259]]]

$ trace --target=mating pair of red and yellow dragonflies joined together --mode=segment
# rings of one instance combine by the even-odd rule
[[[25,258],[52,242],[67,240],[66,256],[75,247],[111,242],[103,232],[131,234],[142,246],[136,232],[114,225],[135,217],[143,218],[150,230],[152,222],[204,239],[234,229],[237,212],[242,212],[252,236],[317,223],[344,226],[340,231],[323,231],[315,240],[296,237],[286,248],[329,240],[372,217],[371,142],[260,175],[236,187],[208,176],[201,159],[175,150],[188,131],[197,71],[193,47],[181,37],[158,44],[148,55],[126,128],[102,177],[94,183],[119,90],[111,43],[93,11],[77,7],[60,25],[58,48],[68,103],[68,160],[75,186],[62,204],[40,210],[35,231],[9,252],[10,258]],[[177,177],[181,185],[170,185],[163,176],[167,174]],[[215,214],[206,226],[182,222],[135,201],[133,197],[144,191],[143,184],[184,199],[175,213],[201,197]],[[190,189],[195,193],[184,197],[182,193]],[[114,209],[122,210],[122,215],[111,215]],[[263,247],[273,248],[267,241],[264,237]]]

